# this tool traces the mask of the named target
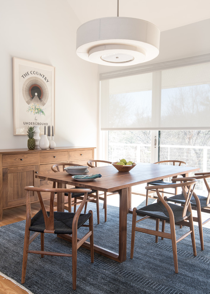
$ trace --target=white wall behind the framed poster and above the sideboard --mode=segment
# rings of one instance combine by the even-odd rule
[[[98,67],[76,55],[80,25],[66,0],[0,0],[0,149],[27,148],[13,135],[13,56],[55,67],[56,146],[96,147]]]

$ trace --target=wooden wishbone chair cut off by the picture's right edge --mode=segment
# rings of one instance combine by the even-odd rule
[[[209,204],[210,187],[209,187],[209,184],[207,183],[207,180],[206,180],[207,178],[210,178],[210,173],[195,173],[195,176],[193,176],[193,178],[196,178],[197,180],[203,179],[203,181],[204,181],[204,183],[206,185],[206,189],[207,189],[207,197],[197,195],[195,193],[195,191],[194,191],[193,194],[192,194],[192,197],[190,199],[190,204],[191,204],[192,210],[197,211],[197,217],[193,216],[193,221],[198,222],[198,229],[199,229],[200,242],[201,242],[201,250],[204,250],[204,245],[203,245],[203,225],[206,224],[207,222],[209,222],[210,218],[206,219],[205,221],[202,221],[201,212],[210,213],[210,204]],[[184,205],[184,202],[185,202],[183,194],[175,195],[175,196],[172,196],[172,197],[166,197],[165,196],[164,199],[166,201],[170,201],[170,202],[181,203],[182,206]]]

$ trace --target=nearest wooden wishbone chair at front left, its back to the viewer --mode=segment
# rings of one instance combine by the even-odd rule
[[[26,195],[26,229],[25,239],[23,247],[23,267],[22,267],[22,279],[21,283],[25,282],[26,278],[26,265],[28,259],[28,253],[40,254],[41,257],[44,255],[55,255],[55,256],[67,256],[72,257],[72,284],[73,290],[76,290],[76,279],[77,279],[77,249],[90,237],[90,255],[91,263],[94,261],[93,252],[93,212],[89,211],[88,214],[81,214],[82,208],[85,205],[85,201],[90,192],[90,189],[79,189],[80,193],[84,193],[84,198],[76,213],[71,212],[57,212],[53,211],[53,203],[55,192],[66,192],[75,193],[76,189],[43,189],[36,188],[33,186],[26,186],[24,188],[27,191]],[[39,201],[41,204],[41,210],[31,218],[31,203],[30,203],[30,191],[37,192]],[[42,199],[41,192],[50,192],[50,211],[46,211],[44,202]],[[65,220],[65,224],[64,221]],[[85,222],[89,220],[89,225],[85,225]],[[89,227],[88,232],[77,241],[77,229],[79,227]],[[30,231],[34,234],[30,237]],[[29,244],[41,233],[41,250],[28,250]],[[48,252],[44,251],[44,233],[51,234],[71,234],[72,235],[72,252],[61,253],[61,252]],[[55,268],[56,271],[56,268]]]

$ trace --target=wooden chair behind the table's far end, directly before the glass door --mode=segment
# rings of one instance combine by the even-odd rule
[[[168,165],[172,164],[172,165],[182,165],[182,166],[187,166],[187,162],[181,161],[181,160],[163,160],[163,161],[158,161],[155,162],[154,164],[165,164],[167,163]],[[177,176],[173,177],[173,178],[177,178]],[[152,185],[152,186],[158,186],[158,185],[170,185],[172,184],[171,182],[166,182],[164,181],[164,179],[161,180],[157,180],[157,181],[152,181],[147,183],[147,186]],[[146,190],[146,205],[148,204],[148,197],[149,197],[149,191],[152,193],[155,193],[155,189],[147,189]],[[177,188],[175,188],[175,192],[171,193],[171,192],[165,192],[164,190],[161,191],[162,193],[167,193],[167,194],[172,194],[172,195],[176,195],[177,194]]]

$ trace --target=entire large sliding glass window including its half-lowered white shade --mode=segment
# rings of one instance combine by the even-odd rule
[[[103,158],[179,159],[210,171],[210,54],[104,73],[100,80],[101,130],[109,134]]]

